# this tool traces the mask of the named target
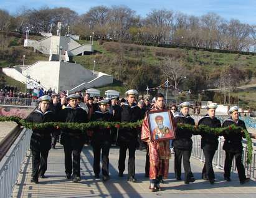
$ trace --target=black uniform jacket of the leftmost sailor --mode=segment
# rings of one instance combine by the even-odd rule
[[[40,109],[33,111],[27,116],[26,121],[32,123],[47,123],[55,121],[54,113],[50,110],[42,113]],[[51,136],[50,133],[53,128],[45,128],[42,130],[32,130],[30,149],[34,151],[50,150]]]

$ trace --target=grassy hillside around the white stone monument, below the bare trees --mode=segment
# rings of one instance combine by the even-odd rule
[[[36,37],[36,39],[39,38]],[[22,47],[22,38],[10,37],[7,39],[9,47],[4,50],[8,50],[9,54],[7,53],[7,58],[0,56],[0,67],[22,64],[23,54],[26,54],[26,64],[32,64],[37,60],[48,59],[43,54],[35,54],[32,52],[32,49],[24,49]],[[88,41],[79,40],[78,42],[84,44]],[[85,68],[93,69],[93,60],[95,60],[95,70],[113,75],[115,78],[113,85],[99,88],[103,92],[108,89],[115,89],[124,93],[128,88],[137,88],[143,92],[145,91],[146,85],[156,87],[165,80],[161,77],[159,65],[162,64],[166,56],[180,59],[187,70],[191,71],[189,77],[201,75],[197,72],[193,73],[194,68],[197,68],[196,71],[204,71],[203,73],[206,75],[205,78],[207,80],[213,79],[218,73],[221,73],[225,68],[230,66],[244,70],[245,73],[250,75],[242,84],[253,83],[256,77],[256,55],[222,54],[204,50],[149,47],[118,42],[95,41],[93,44],[95,53],[73,57],[72,61],[83,65]],[[12,59],[10,58],[11,54],[15,54],[11,56]],[[13,80],[7,77],[5,77],[5,80],[9,84],[14,83]],[[140,84],[141,87],[139,86]],[[211,87],[211,83],[209,85]],[[190,87],[186,85],[182,88],[185,90]],[[242,103],[244,105],[256,106],[254,98],[250,97],[254,92],[255,90],[250,88],[236,91],[232,95],[238,96],[240,100],[243,100]]]

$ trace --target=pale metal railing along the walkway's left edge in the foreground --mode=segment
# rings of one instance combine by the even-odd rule
[[[0,161],[0,197],[12,197],[13,187],[29,149],[31,133],[31,130],[24,128]]]

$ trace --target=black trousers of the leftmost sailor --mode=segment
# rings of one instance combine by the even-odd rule
[[[39,174],[44,175],[47,170],[47,158],[49,150],[45,151],[32,151],[32,177],[38,179]]]

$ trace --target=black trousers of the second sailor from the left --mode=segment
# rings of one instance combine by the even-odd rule
[[[80,177],[80,154],[83,149],[83,144],[77,143],[77,145],[64,144],[65,153],[65,173],[72,174],[73,176]],[[72,160],[73,155],[73,160]]]

